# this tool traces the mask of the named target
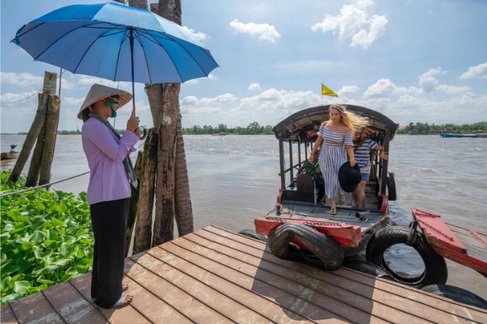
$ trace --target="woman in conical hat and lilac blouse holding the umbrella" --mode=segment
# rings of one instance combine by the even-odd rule
[[[125,266],[127,212],[131,194],[129,154],[140,137],[138,117],[132,111],[122,136],[108,122],[117,110],[131,100],[120,89],[93,85],[81,105],[78,118],[83,119],[81,139],[90,167],[86,200],[90,204],[95,251],[91,278],[91,297],[97,307],[116,308],[128,305],[132,296],[122,286]]]

